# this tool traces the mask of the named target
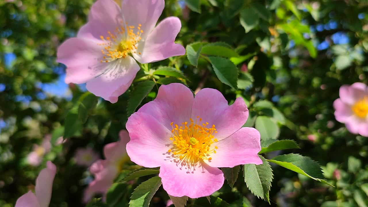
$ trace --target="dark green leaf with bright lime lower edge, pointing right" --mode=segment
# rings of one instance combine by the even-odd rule
[[[277,165],[300,173],[301,175],[305,175],[308,178],[333,186],[325,180],[321,171],[321,166],[309,157],[303,157],[300,154],[286,154],[268,159],[267,161],[276,163]]]

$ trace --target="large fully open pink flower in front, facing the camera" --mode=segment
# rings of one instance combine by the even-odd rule
[[[209,196],[223,185],[220,167],[262,164],[259,132],[242,128],[247,118],[242,98],[229,106],[215,89],[194,98],[183,84],[162,85],[154,101],[129,117],[127,152],[138,165],[160,167],[169,195]]]

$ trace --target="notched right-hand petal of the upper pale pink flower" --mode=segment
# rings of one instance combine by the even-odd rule
[[[177,17],[162,20],[145,41],[138,43],[137,53],[133,53],[134,58],[140,63],[151,63],[185,55],[184,47],[174,43],[180,28],[181,22]]]

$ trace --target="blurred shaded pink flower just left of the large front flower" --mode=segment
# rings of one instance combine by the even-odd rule
[[[89,171],[95,176],[95,180],[89,183],[84,192],[84,202],[88,202],[96,193],[106,194],[114,179],[123,168],[123,165],[130,161],[125,150],[130,140],[127,130],[119,132],[120,140],[105,145],[103,154],[105,159],[99,159],[91,165]]]

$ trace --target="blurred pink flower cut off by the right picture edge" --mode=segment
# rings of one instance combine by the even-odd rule
[[[335,118],[353,134],[368,137],[368,87],[364,83],[343,85],[333,102]]]

